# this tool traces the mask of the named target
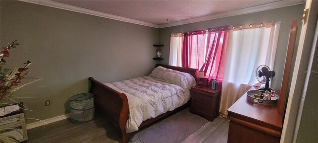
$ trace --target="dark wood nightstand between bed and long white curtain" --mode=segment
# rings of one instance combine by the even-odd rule
[[[214,90],[211,87],[192,86],[190,89],[190,113],[203,116],[212,122],[219,116],[220,94],[221,89]]]

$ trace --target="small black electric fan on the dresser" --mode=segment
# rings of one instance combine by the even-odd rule
[[[275,71],[270,71],[269,67],[266,65],[260,65],[256,69],[256,79],[265,84],[265,87],[258,87],[258,90],[268,90],[271,91],[272,88],[269,87],[269,81],[275,76]]]

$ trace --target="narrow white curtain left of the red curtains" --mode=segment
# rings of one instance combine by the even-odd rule
[[[171,33],[169,65],[182,67],[183,33]]]

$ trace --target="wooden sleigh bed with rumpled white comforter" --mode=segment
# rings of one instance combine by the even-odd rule
[[[90,93],[95,95],[96,109],[113,119],[120,129],[122,143],[128,143],[132,132],[189,105],[188,90],[196,84],[196,72],[197,69],[157,64],[149,76],[129,80],[102,83],[89,77]],[[162,91],[157,91],[156,86]],[[166,107],[166,103],[171,105]],[[153,108],[158,109],[152,111]]]

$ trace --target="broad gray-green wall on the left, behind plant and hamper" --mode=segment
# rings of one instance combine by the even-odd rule
[[[43,77],[14,93],[33,111],[26,118],[69,113],[69,96],[88,92],[88,77],[103,82],[147,75],[157,61],[159,29],[22,1],[0,2],[1,47],[17,39],[7,66],[30,60],[29,77]],[[23,80],[26,83],[30,80]],[[51,106],[44,106],[51,100]],[[28,123],[34,121],[27,121]]]

